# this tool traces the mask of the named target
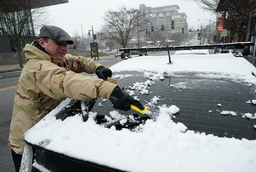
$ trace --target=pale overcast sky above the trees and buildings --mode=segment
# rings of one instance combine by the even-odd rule
[[[70,36],[75,30],[82,34],[81,24],[83,25],[83,34],[87,35],[88,30],[92,28],[94,32],[99,32],[104,21],[102,17],[108,9],[118,10],[121,5],[139,9],[139,4],[145,4],[150,7],[165,5],[179,5],[179,12],[185,12],[187,15],[188,29],[199,28],[201,25],[207,25],[209,21],[198,18],[211,19],[216,21],[216,14],[210,11],[200,9],[200,6],[193,1],[185,2],[183,0],[68,0],[68,3],[53,5],[48,8],[53,19],[51,25],[64,29]],[[95,33],[94,33],[95,34]]]

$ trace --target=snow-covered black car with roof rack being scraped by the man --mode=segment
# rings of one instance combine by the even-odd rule
[[[121,51],[133,49],[145,48]],[[110,68],[117,84],[148,106],[146,115],[98,98],[83,122],[88,104],[67,98],[25,133],[22,169],[255,171],[256,68],[230,53],[171,60],[166,51]]]

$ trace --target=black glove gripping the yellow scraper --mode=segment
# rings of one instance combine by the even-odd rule
[[[145,108],[138,100],[135,100],[128,93],[122,91],[118,86],[110,94],[109,100],[113,104],[113,107],[119,110],[129,111],[131,104],[137,106],[140,110]]]

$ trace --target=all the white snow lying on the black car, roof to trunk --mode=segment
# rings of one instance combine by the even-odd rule
[[[180,55],[172,58],[171,65],[166,64],[168,56],[134,57],[119,62],[111,70],[144,71],[144,76],[151,79],[134,83],[130,87],[131,95],[132,91],[146,94],[147,89],[156,84],[155,80],[163,79],[163,72],[169,75],[175,71],[221,72],[226,77],[240,77],[255,84],[256,79],[252,75],[252,72],[256,73],[255,68],[244,58],[230,55],[205,55],[204,58],[195,56],[193,60]],[[157,73],[152,75],[152,72]],[[115,75],[120,79],[130,76]],[[180,82],[170,86],[186,89],[187,84]],[[46,149],[125,171],[255,171],[256,140],[220,138],[188,130],[184,124],[172,120],[175,118],[174,114],[180,111],[179,105],[158,104],[158,100],[157,95],[154,95],[151,102],[146,102],[150,107],[158,109],[157,120],[147,120],[146,124],[132,132],[128,129],[117,131],[114,126],[108,129],[97,125],[93,119],[96,113],[93,112],[90,112],[87,122],[82,121],[80,114],[64,121],[56,120],[55,114],[69,103],[70,99],[67,98],[30,129],[25,134],[25,139],[32,144],[42,144],[47,140],[44,145]],[[256,100],[252,100],[252,103],[256,103]],[[209,113],[212,111],[214,110]],[[236,116],[233,111],[219,112],[220,115]],[[133,118],[114,109],[109,115],[120,119],[121,125],[125,125],[127,118]],[[255,120],[255,116],[256,114],[245,113],[243,118]],[[112,120],[108,116],[105,118]],[[256,124],[254,127],[256,128]]]

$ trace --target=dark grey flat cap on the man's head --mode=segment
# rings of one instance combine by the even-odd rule
[[[38,37],[39,37],[39,39],[40,38],[50,38],[57,43],[67,41],[68,44],[74,44],[74,41],[71,39],[71,37],[68,35],[68,33],[57,26],[46,26],[45,25],[45,26],[41,27]]]

